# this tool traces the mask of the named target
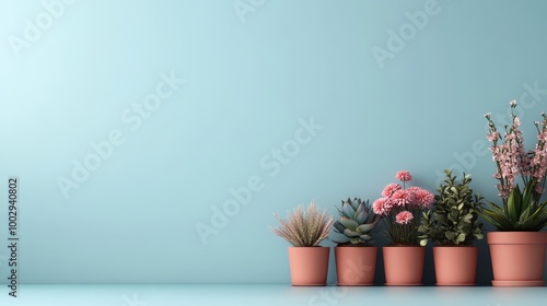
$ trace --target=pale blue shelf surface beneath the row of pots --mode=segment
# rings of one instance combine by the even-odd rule
[[[547,287],[361,286],[293,287],[288,284],[20,285],[2,306],[179,306],[179,305],[547,305]]]

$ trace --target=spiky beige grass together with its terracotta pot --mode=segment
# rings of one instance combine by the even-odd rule
[[[314,201],[306,210],[299,205],[287,215],[287,220],[275,214],[280,226],[271,231],[289,242],[289,266],[293,286],[324,286],[327,284],[328,256],[330,248],[319,246],[328,237],[331,215],[315,207]]]

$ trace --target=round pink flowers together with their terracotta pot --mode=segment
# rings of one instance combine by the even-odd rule
[[[386,285],[421,285],[426,248],[418,243],[421,212],[434,201],[430,191],[420,187],[405,188],[412,176],[398,172],[395,178],[403,183],[389,184],[372,210],[387,226],[391,244],[382,248]]]

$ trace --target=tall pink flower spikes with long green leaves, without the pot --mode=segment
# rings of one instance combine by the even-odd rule
[[[499,231],[537,232],[547,225],[547,201],[540,198],[547,175],[547,115],[542,113],[543,121],[534,122],[537,130],[537,143],[528,152],[524,149],[524,139],[520,130],[521,120],[514,115],[516,102],[512,101],[512,125],[504,127],[502,138],[490,113],[487,139],[492,143],[492,160],[499,180],[497,188],[503,207],[490,202],[491,209],[481,209],[481,215]],[[521,179],[523,190],[519,185]]]

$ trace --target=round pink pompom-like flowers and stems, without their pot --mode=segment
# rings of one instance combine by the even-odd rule
[[[416,246],[422,211],[431,207],[434,196],[420,187],[406,188],[406,183],[412,180],[407,170],[397,172],[395,178],[403,185],[388,184],[382,198],[372,204],[372,210],[386,223],[393,246]]]

